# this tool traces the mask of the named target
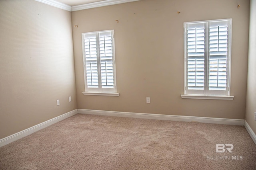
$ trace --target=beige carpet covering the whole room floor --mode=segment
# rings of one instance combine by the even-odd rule
[[[78,114],[1,147],[0,169],[256,170],[256,145],[243,126]]]

